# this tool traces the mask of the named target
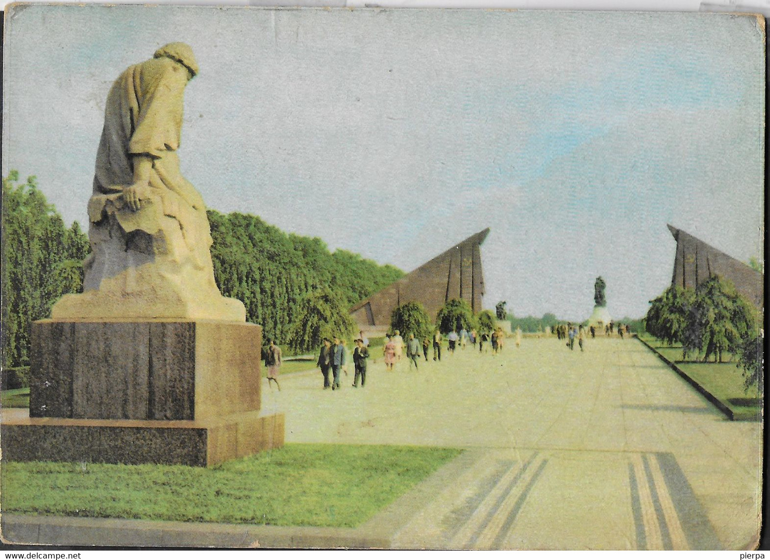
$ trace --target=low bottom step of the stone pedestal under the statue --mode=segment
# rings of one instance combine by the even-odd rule
[[[5,461],[206,467],[283,446],[283,413],[244,412],[206,421],[30,418],[3,411]]]

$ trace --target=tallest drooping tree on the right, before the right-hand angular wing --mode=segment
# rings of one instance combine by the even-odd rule
[[[712,355],[715,362],[721,362],[723,354],[737,354],[755,335],[752,305],[736,292],[732,282],[718,276],[706,278],[696,288],[688,322],[700,335],[704,362]]]

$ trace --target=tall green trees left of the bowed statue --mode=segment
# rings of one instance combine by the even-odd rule
[[[88,238],[78,222],[67,228],[39,191],[34,176],[2,181],[2,300],[5,367],[29,363],[29,328],[48,317],[62,295],[82,291]]]

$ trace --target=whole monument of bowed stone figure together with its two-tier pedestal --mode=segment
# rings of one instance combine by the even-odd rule
[[[197,73],[171,43],[112,85],[84,291],[32,325],[29,417],[4,418],[8,460],[203,466],[283,445],[283,415],[259,411],[261,327],[219,293],[206,206],[179,171]]]

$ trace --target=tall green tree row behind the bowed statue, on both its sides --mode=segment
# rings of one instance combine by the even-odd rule
[[[18,367],[29,363],[31,322],[49,316],[62,295],[82,290],[89,241],[78,222],[65,226],[35,177],[19,183],[18,172],[10,172],[2,194],[2,352],[5,367]],[[223,295],[246,305],[246,320],[262,325],[265,338],[291,340],[298,348],[310,338],[296,318],[314,325],[313,345],[317,335],[351,335],[355,325],[347,309],[403,276],[394,266],[330,252],[319,238],[286,234],[253,215],[212,210],[209,222]]]

